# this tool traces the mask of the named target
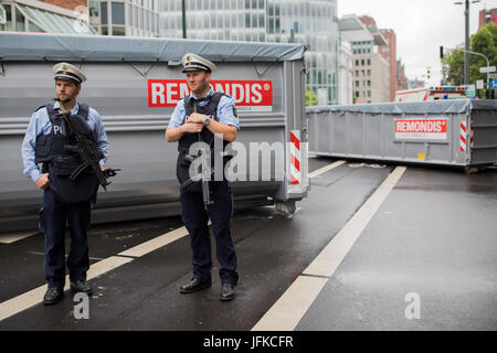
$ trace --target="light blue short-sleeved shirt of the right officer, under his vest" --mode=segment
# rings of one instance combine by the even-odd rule
[[[207,94],[207,97],[212,96],[213,94],[214,90],[212,89],[211,86],[211,89]],[[193,94],[192,97],[194,99],[198,99],[195,96],[193,96]],[[199,101],[199,106],[204,106],[207,104],[209,104],[208,100]],[[234,99],[230,96],[222,96],[218,105],[218,119],[219,122],[234,126],[236,127],[236,129],[240,130],[239,117],[235,116],[234,108],[235,108]],[[177,128],[183,125],[186,122],[184,121],[186,113],[187,110],[184,109],[184,99],[180,99],[180,101],[178,101],[178,105],[175,108],[175,111],[171,115],[168,129]]]

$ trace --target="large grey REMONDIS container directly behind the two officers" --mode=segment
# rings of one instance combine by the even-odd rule
[[[235,208],[275,204],[294,211],[309,186],[307,149],[292,154],[305,136],[304,45],[0,33],[0,232],[38,226],[41,191],[23,176],[20,149],[33,110],[55,94],[52,66],[62,61],[87,76],[78,100],[103,117],[107,165],[123,170],[109,191],[98,194],[92,222],[180,214],[177,146],[167,143],[163,132],[176,103],[188,94],[179,66],[188,52],[218,64],[212,84],[236,100],[236,141],[247,151],[247,164],[251,152],[260,160],[271,147],[282,147],[271,165],[246,168],[246,181],[233,183]],[[260,148],[251,150],[254,146]],[[272,170],[271,178],[257,179],[261,169]]]

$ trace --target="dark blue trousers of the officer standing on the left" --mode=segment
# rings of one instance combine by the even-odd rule
[[[44,191],[40,211],[40,229],[45,237],[43,268],[49,287],[64,287],[66,221],[71,232],[71,250],[67,256],[70,280],[86,280],[86,271],[89,268],[87,231],[91,212],[89,201],[76,205],[64,205],[51,189]]]

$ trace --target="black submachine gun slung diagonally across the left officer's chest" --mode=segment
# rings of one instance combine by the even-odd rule
[[[116,176],[117,172],[120,171],[120,169],[101,169],[99,161],[102,159],[102,152],[98,150],[97,146],[95,143],[92,143],[87,138],[81,135],[80,131],[77,131],[77,129],[71,121],[71,113],[65,109],[64,104],[57,98],[55,98],[54,100],[59,101],[62,116],[64,117],[67,127],[70,128],[71,132],[73,132],[74,138],[76,139],[76,145],[64,146],[64,149],[67,152],[77,153],[83,160],[83,163],[81,163],[80,167],[77,167],[76,170],[71,174],[70,180],[75,181],[83,171],[85,171],[87,168],[91,168],[98,179],[98,183],[102,185],[102,188],[104,188],[105,191],[107,191],[106,186],[110,184],[110,181],[108,181],[107,178]]]

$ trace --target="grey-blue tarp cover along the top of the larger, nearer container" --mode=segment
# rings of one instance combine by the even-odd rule
[[[195,53],[214,62],[282,62],[303,60],[305,50],[303,44],[0,33],[3,61],[180,62]]]

